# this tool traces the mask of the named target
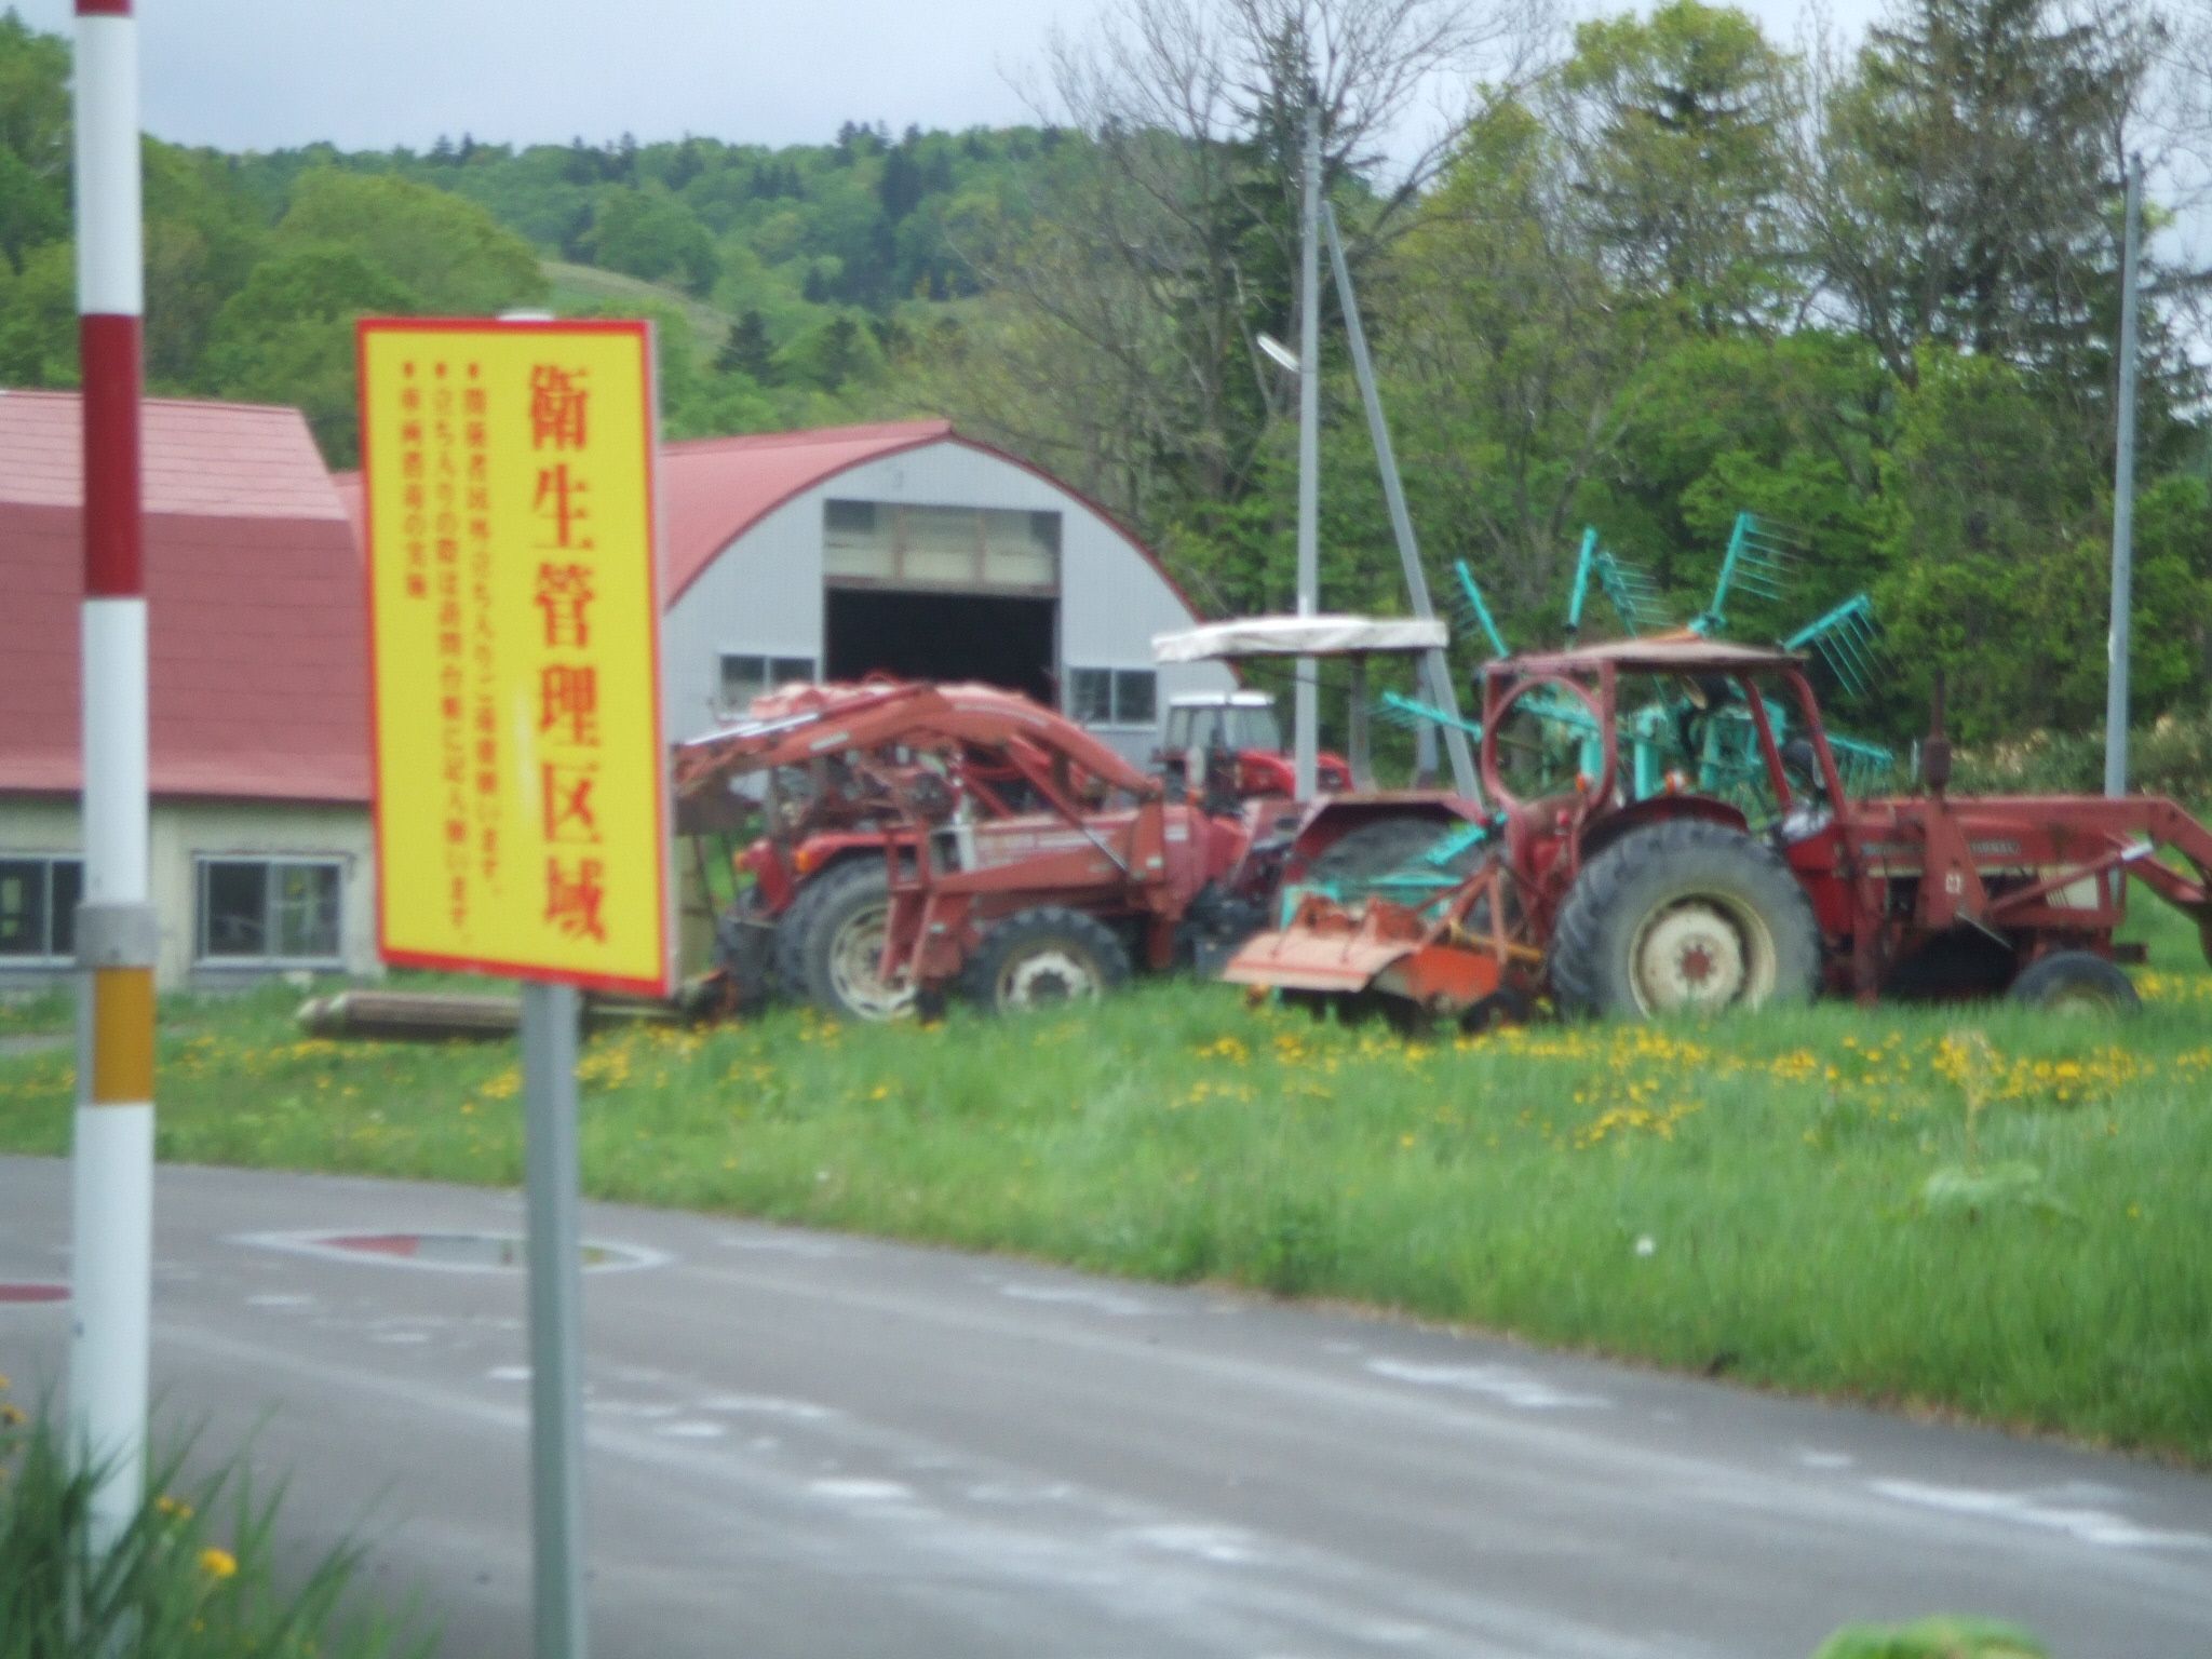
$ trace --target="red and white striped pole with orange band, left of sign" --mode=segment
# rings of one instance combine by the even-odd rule
[[[77,0],[77,327],[84,380],[84,969],[73,1152],[73,1455],[102,1473],[106,1553],[146,1491],[153,1287],[153,967],[146,571],[139,540],[137,20]]]

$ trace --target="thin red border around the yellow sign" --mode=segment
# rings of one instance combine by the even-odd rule
[[[646,604],[653,617],[653,757],[659,787],[653,792],[653,865],[655,891],[659,894],[659,916],[655,933],[659,938],[661,975],[657,980],[630,980],[619,973],[575,973],[538,964],[507,962],[500,958],[436,956],[431,951],[396,951],[385,938],[385,814],[380,732],[376,710],[376,491],[369,487],[369,334],[484,334],[489,330],[513,330],[518,334],[630,334],[646,385]],[[354,387],[361,405],[361,577],[369,613],[369,836],[376,847],[376,956],[389,967],[420,967],[440,973],[493,973],[509,980],[538,980],[544,984],[573,984],[580,991],[626,991],[635,995],[666,998],[675,984],[672,951],[675,927],[670,918],[672,898],[668,894],[668,734],[661,728],[661,473],[655,467],[661,438],[661,389],[659,367],[653,361],[653,323],[641,319],[580,316],[580,319],[529,319],[504,323],[484,316],[363,316],[354,325]]]

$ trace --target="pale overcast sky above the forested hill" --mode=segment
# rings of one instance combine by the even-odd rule
[[[1736,0],[1783,40],[1803,0]],[[69,0],[15,0],[53,31]],[[146,128],[272,150],[557,142],[821,144],[841,122],[1029,119],[1013,80],[1099,0],[139,0]],[[1588,9],[1588,7],[1584,7]],[[1615,9],[1615,7],[1604,7]],[[1856,29],[1878,0],[1829,0]]]

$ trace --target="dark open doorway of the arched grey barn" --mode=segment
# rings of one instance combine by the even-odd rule
[[[1060,706],[1060,602],[1006,593],[830,588],[827,677],[980,679]]]

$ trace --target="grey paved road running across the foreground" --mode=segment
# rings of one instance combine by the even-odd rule
[[[60,1164],[0,1159],[0,1279],[60,1274]],[[524,1652],[522,1283],[301,1254],[513,1230],[513,1194],[173,1168],[157,1389],[259,1425],[314,1540],[449,1655]],[[1340,1314],[595,1208],[604,1659],[1792,1659],[1978,1608],[2070,1659],[2212,1650],[2212,1480]],[[51,1376],[64,1310],[0,1307]]]

